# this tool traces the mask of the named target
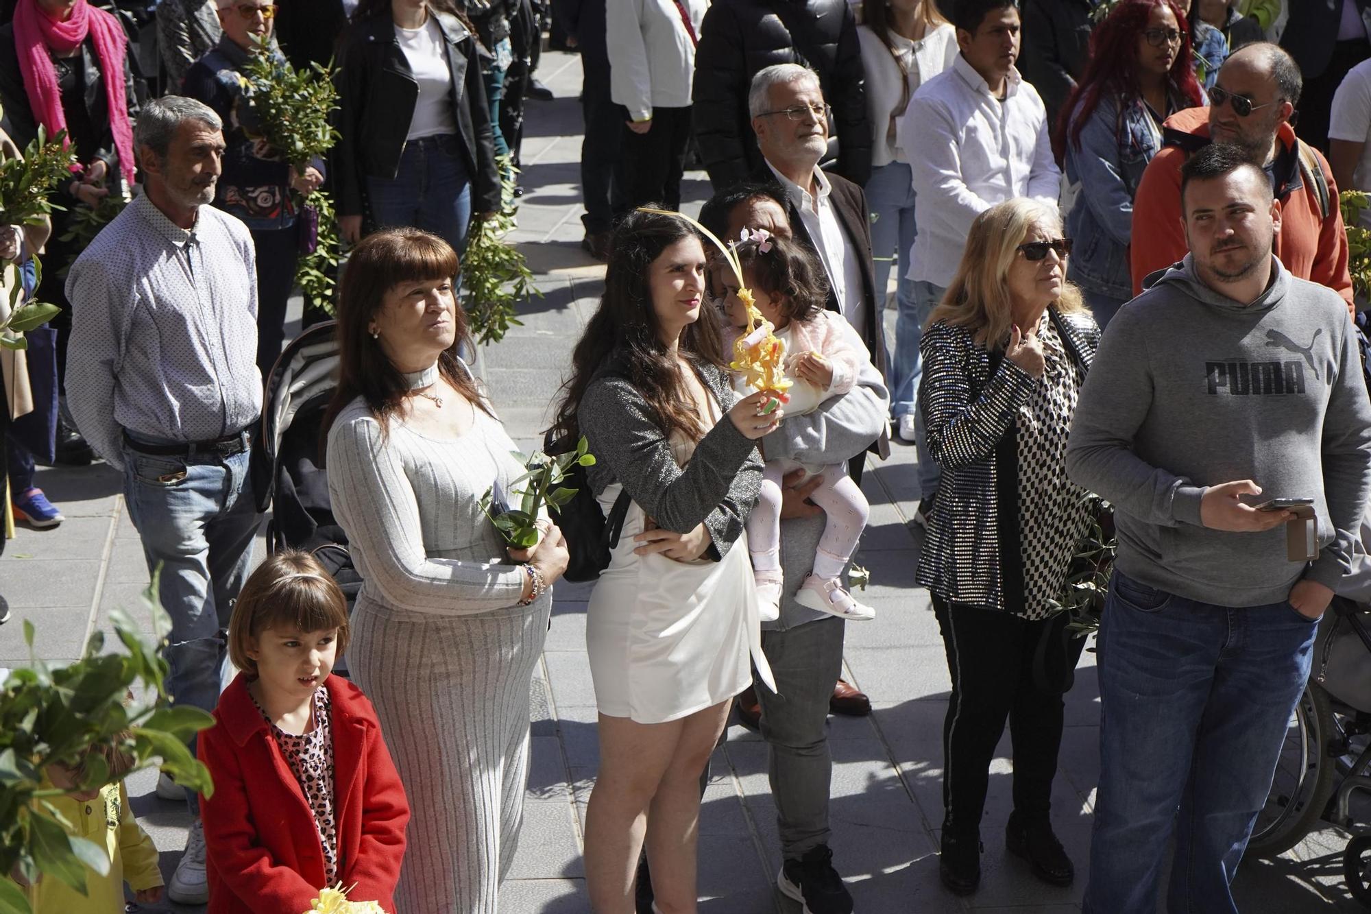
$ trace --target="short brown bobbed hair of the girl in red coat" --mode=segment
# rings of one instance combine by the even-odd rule
[[[248,656],[252,640],[267,629],[337,629],[339,656],[347,651],[347,597],[310,553],[278,552],[243,585],[229,619],[229,659],[248,677],[256,677],[256,660]]]

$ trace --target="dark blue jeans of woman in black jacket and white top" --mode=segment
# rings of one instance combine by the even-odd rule
[[[458,254],[466,250],[472,181],[458,144],[452,133],[410,140],[393,178],[366,178],[377,228],[421,228],[440,236]]]

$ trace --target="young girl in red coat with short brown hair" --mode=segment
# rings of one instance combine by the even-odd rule
[[[200,734],[208,914],[300,914],[337,884],[393,914],[410,807],[372,703],[329,675],[347,640],[347,601],[313,556],[278,553],[243,586],[243,672]]]

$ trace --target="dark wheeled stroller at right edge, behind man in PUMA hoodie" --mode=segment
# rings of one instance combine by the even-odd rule
[[[1371,608],[1334,597],[1248,852],[1283,854],[1326,819],[1352,833],[1344,877],[1348,892],[1371,907],[1371,819],[1359,822],[1353,811],[1371,796],[1355,797],[1359,790],[1371,795]]]

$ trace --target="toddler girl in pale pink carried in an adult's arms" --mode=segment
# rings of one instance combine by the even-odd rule
[[[817,261],[794,242],[761,231],[753,232],[735,251],[757,310],[771,321],[786,346],[786,376],[792,387],[786,391],[790,401],[783,423],[814,412],[829,397],[850,391],[869,357],[847,321],[824,310],[828,284]],[[732,343],[746,332],[747,312],[738,299],[738,279],[729,272],[723,283],[728,340]],[[769,622],[780,612],[780,480],[797,467],[810,476],[820,476],[818,489],[809,498],[824,509],[828,520],[814,554],[813,571],[801,585],[795,601],[842,619],[873,619],[876,611],[853,600],[840,578],[866,527],[871,513],[866,497],[843,465],[820,467],[802,460],[766,461],[761,495],[747,520],[747,546],[762,619]]]

